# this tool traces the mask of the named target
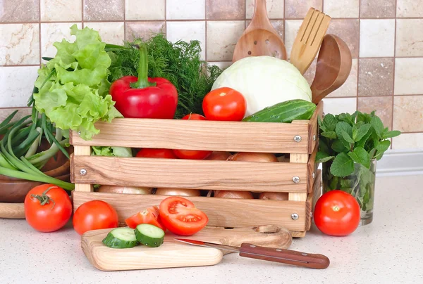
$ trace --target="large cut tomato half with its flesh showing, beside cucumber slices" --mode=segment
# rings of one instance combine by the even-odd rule
[[[160,202],[160,219],[176,235],[193,235],[209,222],[209,218],[186,198],[171,196]]]

